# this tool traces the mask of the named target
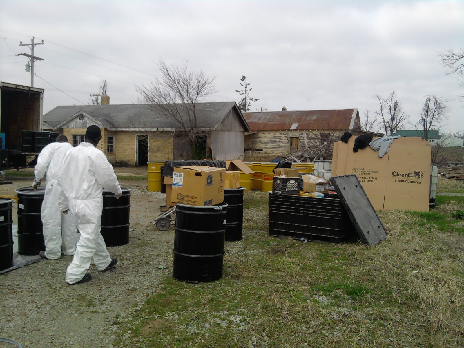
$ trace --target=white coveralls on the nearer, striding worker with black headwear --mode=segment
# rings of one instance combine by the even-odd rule
[[[103,188],[121,194],[113,167],[102,151],[90,142],[82,142],[64,156],[58,176],[61,211],[69,209],[81,234],[76,252],[66,271],[66,282],[81,280],[93,261],[99,271],[111,262],[110,253],[100,233],[103,212]]]

